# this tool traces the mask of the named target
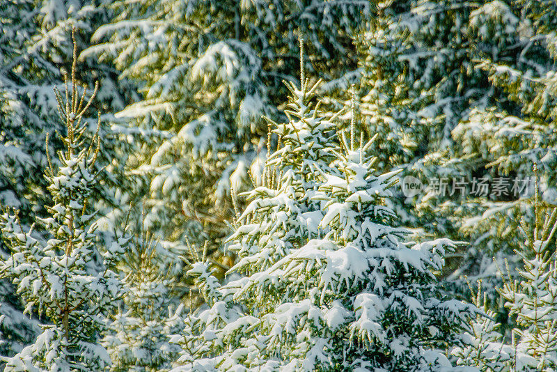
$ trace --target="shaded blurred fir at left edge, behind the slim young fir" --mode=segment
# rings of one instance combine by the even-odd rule
[[[36,217],[47,217],[45,206],[52,203],[42,171],[48,166],[45,138],[49,135],[49,152],[55,154],[63,148],[55,132],[64,130],[58,121],[53,88],[63,91],[61,68],[70,70],[71,26],[77,27],[75,38],[78,49],[83,49],[95,24],[107,22],[107,13],[95,4],[97,1],[88,0],[9,0],[0,4],[0,203],[20,210],[19,218],[26,229]],[[77,69],[77,79],[83,79],[79,85],[92,86],[93,79],[101,82],[93,106],[108,111],[103,120],[133,98],[130,84],[125,79],[117,80],[116,70],[109,65],[87,60]],[[84,71],[90,72],[82,74]],[[88,123],[86,136],[93,137],[96,114],[84,117],[84,121]],[[125,152],[117,148],[125,147],[125,141],[116,141],[118,136],[108,126],[100,128],[98,135],[102,138],[98,156],[103,164],[109,163],[113,173],[99,182],[111,187],[127,185],[116,176],[121,169],[116,160],[125,157]],[[56,157],[52,162],[58,164]],[[104,192],[106,188],[97,188],[95,192],[102,195],[95,199],[113,205],[114,192]],[[9,256],[1,242],[0,256]],[[6,317],[0,324],[0,355],[21,350],[39,330],[36,320],[22,315],[19,302],[9,281],[1,280],[0,312]]]

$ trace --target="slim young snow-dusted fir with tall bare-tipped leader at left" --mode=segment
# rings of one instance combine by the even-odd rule
[[[97,213],[91,198],[99,177],[95,163],[100,137],[86,137],[84,114],[97,89],[87,100],[86,88],[78,86],[76,53],[74,49],[70,76],[65,75],[65,95],[56,91],[65,131],[59,165],[49,161],[46,169],[53,200],[47,206],[50,216],[37,218],[29,229],[9,208],[0,217],[2,238],[10,249],[10,256],[0,262],[0,277],[13,282],[26,313],[38,311],[48,320],[31,345],[4,359],[5,371],[100,371],[110,365],[98,339],[123,289],[112,268],[127,239],[101,247],[95,233]]]

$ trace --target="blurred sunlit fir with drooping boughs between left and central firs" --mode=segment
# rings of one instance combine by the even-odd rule
[[[247,170],[265,158],[267,125],[282,102],[281,80],[297,65],[301,33],[311,63],[327,79],[355,68],[350,35],[370,15],[358,1],[114,1],[113,22],[95,33],[88,55],[113,61],[144,99],[121,111],[153,134],[130,163],[146,175],[148,227],[185,247],[230,233],[230,188],[249,184]],[[310,63],[307,68],[313,68]],[[158,137],[158,138],[157,138]]]

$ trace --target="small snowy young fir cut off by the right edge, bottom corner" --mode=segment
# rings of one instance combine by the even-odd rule
[[[557,230],[557,208],[541,224],[537,187],[535,196],[534,231],[521,222],[527,249],[516,252],[524,268],[517,280],[507,267],[508,277],[500,292],[518,325],[512,330],[515,371],[549,372],[557,369],[557,261],[555,250],[549,247]],[[528,258],[529,252],[533,252],[532,258]]]

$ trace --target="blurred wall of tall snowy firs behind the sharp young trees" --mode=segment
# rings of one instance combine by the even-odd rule
[[[495,319],[515,327],[496,290],[501,268],[535,256],[520,226],[557,204],[554,1],[6,0],[0,31],[1,206],[25,228],[48,217],[45,173],[68,146],[56,91],[88,87],[87,100],[97,82],[82,118],[99,146],[95,239],[134,236],[118,267],[155,268],[164,288],[148,301],[200,307],[188,270],[203,250],[225,280],[242,192],[279,146],[269,123],[287,121],[283,80],[322,79],[324,118],[377,136],[375,169],[400,172],[387,201],[396,227],[418,242],[466,242],[436,272],[446,293],[473,302],[466,281],[481,279]],[[24,315],[8,279],[0,303],[0,355],[11,356],[45,315]]]

